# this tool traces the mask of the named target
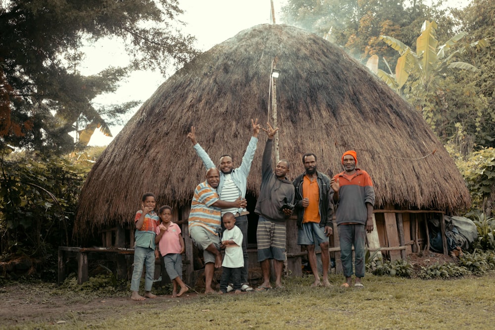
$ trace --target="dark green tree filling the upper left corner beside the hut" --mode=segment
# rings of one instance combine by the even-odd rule
[[[107,121],[136,102],[98,108],[97,95],[131,70],[164,73],[194,56],[194,38],[176,28],[181,12],[177,0],[0,1],[0,148],[67,152],[76,123],[110,134]],[[83,42],[105,37],[123,42],[131,64],[81,75]]]

